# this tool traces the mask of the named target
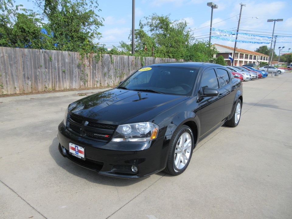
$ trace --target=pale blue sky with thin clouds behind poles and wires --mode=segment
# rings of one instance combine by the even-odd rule
[[[173,20],[185,20],[188,27],[192,30],[197,40],[209,41],[211,8],[207,2],[201,0],[135,0],[135,29],[139,28],[139,21],[144,17],[156,13],[159,16],[169,15]],[[33,9],[31,2],[17,0],[16,3],[25,5],[26,8]],[[269,44],[255,44],[251,42],[270,42],[265,36],[271,37],[274,22],[267,22],[268,19],[283,19],[283,22],[275,23],[274,36],[279,36],[276,40],[275,52],[279,53],[278,47],[285,47],[282,53],[292,52],[292,1],[272,1],[272,0],[214,0],[218,5],[213,10],[212,27],[225,30],[224,32],[214,32],[212,36],[218,36],[220,39],[211,39],[211,43],[217,43],[225,46],[234,47],[234,42],[222,40],[224,38],[234,39],[235,35],[230,32],[236,32],[241,5],[242,15],[239,26],[238,40],[249,43],[237,42],[238,48],[254,51],[260,46]],[[130,43],[129,35],[132,28],[132,0],[99,0],[100,12],[97,14],[104,18],[99,32],[102,38],[95,42],[105,44],[107,48],[118,47],[121,41]],[[244,35],[241,33],[248,33]],[[224,36],[228,34],[229,36]],[[255,36],[257,35],[257,36]],[[280,37],[286,36],[286,37]]]

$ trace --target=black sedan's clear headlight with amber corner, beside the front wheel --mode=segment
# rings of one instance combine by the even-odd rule
[[[112,141],[151,141],[157,137],[158,125],[145,122],[120,125]]]

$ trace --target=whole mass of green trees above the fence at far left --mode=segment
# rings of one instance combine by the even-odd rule
[[[96,14],[100,11],[97,1],[35,0],[40,14],[14,6],[13,0],[0,3],[0,46],[105,52],[93,42],[100,38],[98,28],[103,26],[103,18]]]

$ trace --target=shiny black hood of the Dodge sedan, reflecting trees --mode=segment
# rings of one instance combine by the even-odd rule
[[[188,96],[111,89],[69,105],[69,113],[99,123],[126,124],[150,121]]]

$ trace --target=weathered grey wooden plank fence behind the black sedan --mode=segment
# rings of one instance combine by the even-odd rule
[[[144,65],[183,61],[171,58],[0,47],[0,92],[29,93],[47,90],[117,85]]]

